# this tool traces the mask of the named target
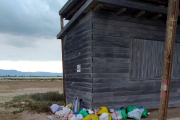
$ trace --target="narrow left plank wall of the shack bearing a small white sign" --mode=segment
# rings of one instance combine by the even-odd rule
[[[84,16],[64,37],[66,104],[82,99],[82,107],[92,103],[91,12]],[[77,73],[77,65],[81,72]]]

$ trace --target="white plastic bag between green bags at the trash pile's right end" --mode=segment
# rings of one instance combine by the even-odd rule
[[[143,108],[134,109],[133,111],[131,111],[131,112],[128,113],[128,117],[129,117],[129,118],[134,118],[135,120],[140,120],[143,111],[144,111]]]

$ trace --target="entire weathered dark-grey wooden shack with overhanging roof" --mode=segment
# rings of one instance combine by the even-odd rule
[[[66,104],[159,107],[167,1],[69,0],[59,14]],[[178,25],[170,107],[180,106],[179,50]]]

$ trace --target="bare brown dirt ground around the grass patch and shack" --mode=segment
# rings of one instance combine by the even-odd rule
[[[29,93],[43,93],[48,91],[59,91],[62,93],[63,84],[61,81],[0,81],[0,104],[11,100],[16,95]],[[24,111],[13,114],[14,109],[0,107],[0,120],[48,120],[47,114],[31,114]],[[158,110],[151,110],[148,118],[142,120],[157,120]],[[54,119],[55,115],[51,114]],[[168,111],[168,120],[180,120],[180,108],[171,108]]]

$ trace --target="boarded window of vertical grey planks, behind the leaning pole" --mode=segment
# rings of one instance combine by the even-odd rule
[[[180,78],[180,43],[175,44],[173,79]],[[132,41],[131,79],[161,79],[164,42],[134,39]]]

